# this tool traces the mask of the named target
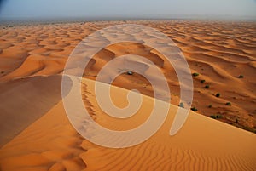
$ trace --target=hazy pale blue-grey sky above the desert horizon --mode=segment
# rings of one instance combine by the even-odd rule
[[[2,0],[1,19],[233,17],[256,20],[256,0]]]

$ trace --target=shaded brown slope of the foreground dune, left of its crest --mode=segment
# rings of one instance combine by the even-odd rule
[[[61,100],[61,76],[0,83],[0,147]]]

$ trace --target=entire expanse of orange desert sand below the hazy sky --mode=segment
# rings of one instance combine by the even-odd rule
[[[113,99],[124,107],[125,89],[138,89],[147,95],[143,96],[138,117],[119,123],[99,109],[91,80],[96,80],[108,61],[123,54],[142,55],[160,67],[169,83],[172,106],[163,127],[149,140],[130,148],[108,149],[84,140],[68,122],[61,101],[61,73],[68,55],[84,37],[106,26],[126,23],[152,26],[177,43],[191,72],[199,73],[193,77],[192,104],[198,111],[191,111],[181,131],[170,136],[179,103],[179,83],[173,67],[143,44],[110,45],[97,53],[84,71],[84,104],[97,123],[116,130],[134,128],[147,119],[150,107],[145,106],[153,104],[154,92],[146,78],[136,73],[122,74],[113,82],[120,87],[113,86]],[[130,62],[157,77],[147,63]],[[253,170],[256,135],[240,128],[256,129],[255,67],[256,24],[251,22],[109,21],[1,26],[0,170]],[[127,68],[120,68],[123,70]],[[210,88],[204,88],[206,85]],[[215,96],[217,93],[220,97]],[[220,116],[218,120],[224,123],[209,118],[212,115]]]

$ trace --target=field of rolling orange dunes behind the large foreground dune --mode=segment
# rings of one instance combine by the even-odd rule
[[[61,73],[68,55],[79,41],[103,27],[122,23],[152,26],[177,43],[191,71],[200,74],[195,77],[195,98],[192,104],[198,109],[197,112],[208,117],[221,115],[220,120],[225,123],[255,131],[256,98],[252,78],[256,77],[253,64],[256,57],[256,31],[255,23],[250,22],[105,21],[9,27],[1,32],[0,81]],[[142,37],[150,38],[146,34]],[[179,104],[179,83],[172,66],[161,54],[142,44],[117,43],[102,49],[84,71],[84,77],[95,80],[102,66],[122,54],[142,55],[159,66],[168,79],[172,104]],[[244,78],[239,79],[240,75]],[[121,75],[113,85],[137,88],[153,97],[153,89],[147,80],[138,77]],[[201,84],[202,79],[206,83]],[[211,88],[205,89],[207,84]],[[212,95],[217,93],[222,94],[221,100],[216,100]],[[226,102],[232,104],[228,110]],[[208,108],[208,105],[212,105],[212,108]]]

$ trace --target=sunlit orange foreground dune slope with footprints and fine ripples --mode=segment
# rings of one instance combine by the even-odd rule
[[[129,121],[107,122],[95,103],[94,81],[84,79],[84,103],[96,122],[125,129]],[[125,105],[127,90],[112,87],[117,105]],[[143,95],[145,105],[153,103]],[[177,106],[149,140],[125,149],[109,149],[84,140],[67,120],[62,102],[32,123],[0,150],[0,168],[8,170],[253,170],[256,135],[190,112],[183,128],[169,135]],[[144,117],[137,117],[143,122]],[[131,118],[132,119],[132,118]],[[132,122],[131,122],[132,123]],[[131,125],[134,126],[134,125]]]

